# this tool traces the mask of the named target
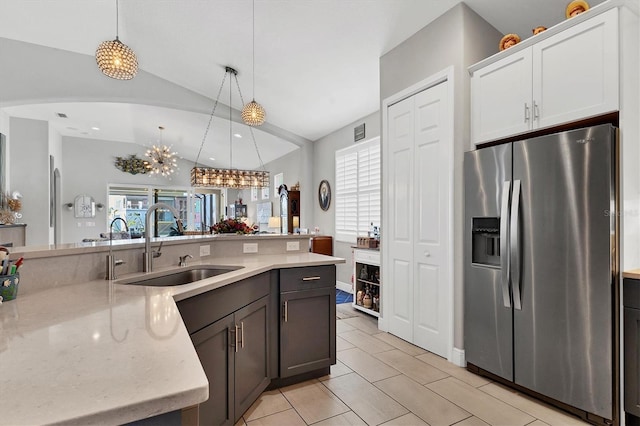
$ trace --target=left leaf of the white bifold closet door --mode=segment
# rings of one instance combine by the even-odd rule
[[[389,332],[411,342],[413,340],[413,149],[414,99],[405,99],[388,108],[387,155],[384,163],[390,225],[382,244],[388,245],[389,268],[385,297],[389,313]],[[387,282],[391,284],[388,285]],[[385,302],[383,302],[385,303]]]

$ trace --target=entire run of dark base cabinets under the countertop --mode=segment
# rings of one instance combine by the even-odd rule
[[[334,265],[281,269],[178,302],[209,380],[199,424],[233,425],[272,380],[336,363],[335,284]]]

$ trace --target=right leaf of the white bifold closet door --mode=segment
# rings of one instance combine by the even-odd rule
[[[447,82],[415,98],[413,342],[448,356],[448,271],[452,137]]]

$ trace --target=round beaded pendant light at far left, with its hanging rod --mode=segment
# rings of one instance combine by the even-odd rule
[[[118,0],[116,0],[116,39],[104,41],[96,50],[100,71],[118,80],[131,80],[138,72],[136,54],[118,38]]]

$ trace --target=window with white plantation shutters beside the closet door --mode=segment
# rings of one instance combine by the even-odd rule
[[[380,138],[336,151],[336,240],[367,235],[380,210]]]

